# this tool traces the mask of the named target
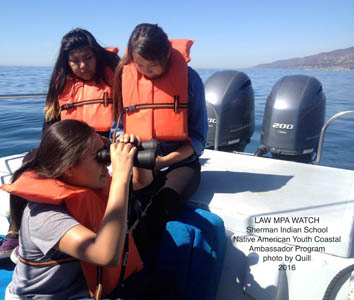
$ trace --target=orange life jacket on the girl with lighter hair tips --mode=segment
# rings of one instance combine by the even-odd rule
[[[118,53],[118,48],[106,48]],[[112,86],[114,71],[104,69],[105,80],[98,84],[95,80],[82,81],[76,77],[67,77],[63,92],[58,101],[60,118],[85,121],[96,131],[109,131],[113,123]]]

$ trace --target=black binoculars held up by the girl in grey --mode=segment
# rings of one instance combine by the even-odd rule
[[[150,169],[155,168],[155,159],[159,150],[158,140],[149,140],[142,142],[141,145],[137,146],[133,144],[138,151],[134,157],[134,166],[138,168]],[[109,151],[109,146],[106,145],[103,149],[97,152],[97,160],[100,163],[111,163],[111,153]]]

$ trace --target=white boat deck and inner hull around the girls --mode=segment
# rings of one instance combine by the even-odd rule
[[[1,183],[22,158],[0,159]],[[212,150],[201,164],[189,202],[222,217],[228,237],[217,300],[322,299],[354,264],[354,171]],[[0,197],[4,234],[8,195]],[[338,299],[349,288],[347,281]]]

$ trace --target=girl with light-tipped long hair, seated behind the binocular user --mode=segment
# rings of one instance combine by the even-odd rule
[[[101,47],[90,32],[81,28],[62,38],[50,79],[43,131],[59,120],[76,119],[108,136],[113,122],[112,86],[119,62],[117,52],[118,48]],[[30,155],[31,152],[24,160]],[[12,223],[6,239],[0,242],[0,258],[15,254],[25,205],[26,201],[10,197]]]

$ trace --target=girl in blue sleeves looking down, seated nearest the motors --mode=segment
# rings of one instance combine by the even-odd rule
[[[208,124],[203,83],[187,65],[192,44],[169,40],[158,25],[140,24],[115,72],[114,134],[160,141],[154,196],[145,220],[149,240],[136,238],[146,256],[153,254],[166,222],[176,217],[200,183],[199,156]]]

